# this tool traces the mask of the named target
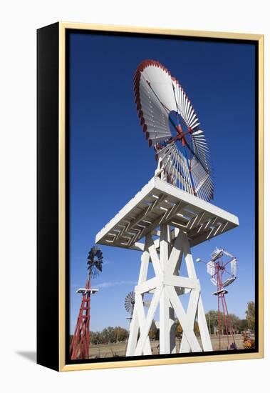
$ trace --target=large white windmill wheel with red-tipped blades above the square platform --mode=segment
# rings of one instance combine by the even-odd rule
[[[134,77],[135,102],[157,174],[209,201],[214,184],[209,149],[197,114],[179,81],[159,61],[145,60]]]

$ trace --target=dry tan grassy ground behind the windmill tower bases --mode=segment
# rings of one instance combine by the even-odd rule
[[[237,344],[237,349],[243,349],[243,338],[242,334],[237,334],[234,336],[235,343]],[[219,350],[219,338],[211,337],[212,347],[214,351]],[[232,337],[229,337],[229,343],[232,343]],[[152,354],[158,354],[158,341],[151,341]],[[199,339],[199,344],[201,341]],[[228,339],[227,336],[222,337],[222,349],[226,350],[228,347]],[[98,344],[98,345],[90,345],[90,358],[96,357],[118,357],[125,356],[125,342],[118,342],[116,344]],[[176,350],[179,352],[180,349],[180,340],[177,339]]]

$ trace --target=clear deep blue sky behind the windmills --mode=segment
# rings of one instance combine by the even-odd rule
[[[254,299],[254,50],[249,44],[71,34],[71,332],[95,234],[155,171],[133,96],[133,74],[145,59],[160,61],[184,87],[211,149],[213,203],[239,217],[237,229],[192,252],[208,262],[217,246],[237,257],[239,276],[227,305],[244,318]],[[128,327],[123,304],[138,277],[140,252],[100,248],[103,273],[92,283],[100,291],[91,300],[90,329]],[[204,264],[196,268],[205,311],[217,309]]]

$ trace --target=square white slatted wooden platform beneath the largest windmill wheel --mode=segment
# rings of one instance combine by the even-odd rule
[[[160,224],[184,229],[191,247],[239,225],[239,220],[209,202],[153,177],[98,232],[95,242],[142,251],[140,239]]]

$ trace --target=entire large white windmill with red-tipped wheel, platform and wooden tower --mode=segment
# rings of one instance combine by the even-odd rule
[[[151,354],[149,332],[157,313],[160,354],[176,352],[175,317],[183,331],[181,353],[212,351],[191,247],[237,227],[239,221],[209,203],[214,192],[209,148],[177,79],[158,61],[145,60],[135,72],[134,91],[157,170],[95,238],[100,244],[142,252],[126,354]],[[187,277],[180,274],[184,262]],[[152,296],[149,309],[145,294]],[[187,312],[182,296],[189,297]],[[194,334],[196,319],[202,344]]]

